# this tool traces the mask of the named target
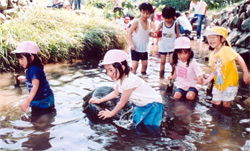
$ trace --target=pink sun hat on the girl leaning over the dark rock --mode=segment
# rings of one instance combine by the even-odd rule
[[[111,49],[106,52],[104,59],[100,65],[113,64],[115,62],[122,62],[127,60],[128,55],[126,52],[119,49]]]

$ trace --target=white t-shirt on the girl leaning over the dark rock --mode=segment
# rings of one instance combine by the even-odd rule
[[[129,73],[129,75],[125,77],[122,85],[120,80],[118,80],[117,86],[120,93],[122,93],[123,90],[136,88],[129,98],[129,101],[136,106],[145,106],[152,102],[162,103],[161,96],[144,80],[133,73]]]

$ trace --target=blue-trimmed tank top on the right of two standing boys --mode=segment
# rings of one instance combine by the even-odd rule
[[[159,52],[173,52],[174,41],[176,39],[175,22],[170,27],[166,26],[166,23],[162,24],[162,38],[159,44]]]

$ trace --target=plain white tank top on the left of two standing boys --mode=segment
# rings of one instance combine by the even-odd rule
[[[135,45],[135,51],[137,52],[147,52],[148,51],[148,42],[149,42],[149,30],[150,23],[148,21],[148,27],[146,30],[143,29],[140,19],[138,21],[138,31],[133,32],[133,43]]]

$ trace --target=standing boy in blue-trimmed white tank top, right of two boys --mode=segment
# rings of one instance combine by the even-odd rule
[[[156,33],[162,29],[162,38],[159,44],[159,53],[161,56],[160,78],[164,78],[166,56],[169,54],[169,63],[172,66],[172,56],[174,51],[174,41],[179,37],[179,25],[175,23],[175,9],[165,7],[162,10],[163,22],[159,24]],[[156,35],[155,33],[155,35]],[[173,71],[173,67],[172,67]]]

